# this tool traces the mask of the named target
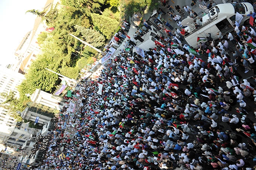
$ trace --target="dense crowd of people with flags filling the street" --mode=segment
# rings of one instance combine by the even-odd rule
[[[39,137],[34,152],[43,147],[44,161],[29,169],[256,169],[256,77],[240,75],[255,75],[255,32],[234,27],[196,53],[172,35],[142,56],[123,50],[108,60],[73,91],[76,110],[63,108],[56,129]]]

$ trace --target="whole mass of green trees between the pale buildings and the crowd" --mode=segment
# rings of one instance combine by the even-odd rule
[[[71,37],[73,34],[96,48],[105,46],[106,40],[120,28],[120,21],[134,12],[151,8],[157,0],[62,0],[49,11],[28,10],[42,18],[50,32],[42,32],[37,39],[41,53],[29,68],[25,80],[18,87],[19,102],[12,94],[5,95],[10,106],[17,110],[25,106],[36,88],[52,93],[60,83],[58,75],[45,70],[56,71],[69,78],[77,78],[79,70],[94,62],[92,56],[97,52]],[[9,106],[9,107],[10,107]]]

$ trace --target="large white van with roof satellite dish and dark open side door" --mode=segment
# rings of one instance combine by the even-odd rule
[[[236,13],[240,13],[243,17],[240,25],[248,25],[250,17],[246,16],[254,11],[253,6],[248,3],[224,3],[215,5],[209,9],[209,13],[201,16],[203,19],[202,26],[198,29],[194,26],[193,18],[183,19],[181,24],[187,26],[185,30],[188,32],[185,35],[185,40],[193,48],[198,48],[197,38],[208,37],[208,33],[211,33],[211,37],[217,40],[217,33],[221,32],[223,36],[226,33],[231,32],[233,28],[232,21],[235,21]],[[198,16],[200,17],[200,16]]]

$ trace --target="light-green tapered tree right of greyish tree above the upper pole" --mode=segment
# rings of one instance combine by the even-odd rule
[[[111,38],[119,28],[119,22],[115,19],[95,13],[91,14],[91,17],[94,26],[96,26],[107,39]]]

